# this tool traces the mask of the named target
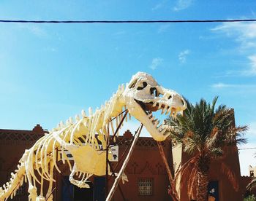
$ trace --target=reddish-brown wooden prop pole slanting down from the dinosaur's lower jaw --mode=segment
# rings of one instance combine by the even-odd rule
[[[178,193],[176,191],[175,184],[173,184],[173,175],[170,171],[169,164],[168,164],[167,159],[165,157],[165,151],[162,148],[162,143],[157,141],[157,145],[158,145],[158,148],[159,148],[160,155],[162,157],[162,161],[165,163],[165,168],[166,168],[167,175],[168,175],[168,178],[169,178],[170,188],[171,188],[170,189],[170,197],[172,197],[173,201],[178,201]]]

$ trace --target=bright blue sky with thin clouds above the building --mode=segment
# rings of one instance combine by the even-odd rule
[[[256,18],[256,1],[1,1],[1,20]],[[256,23],[0,23],[0,127],[51,129],[146,71],[192,103],[219,95],[256,147]],[[240,151],[241,169],[256,165]]]

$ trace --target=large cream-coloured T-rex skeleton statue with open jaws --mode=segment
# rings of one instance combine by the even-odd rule
[[[61,156],[63,163],[67,162],[69,165],[69,181],[80,188],[89,187],[86,181],[90,176],[105,175],[106,154],[105,151],[99,150],[101,146],[103,149],[106,148],[109,131],[112,130],[114,133],[114,127],[121,122],[124,110],[138,119],[154,140],[165,141],[166,129],[159,125],[159,120],[153,116],[153,112],[162,109],[162,114],[176,117],[178,112],[182,113],[186,108],[187,105],[181,95],[159,86],[151,75],[138,72],[132,76],[129,84],[119,86],[110,101],[96,109],[94,114],[92,109],[89,109],[89,116],[82,111],[82,117],[76,116],[75,122],[71,117],[66,125],[60,122],[31,149],[26,150],[19,161],[18,170],[11,173],[10,182],[0,188],[0,200],[15,196],[23,181],[29,182],[29,200],[46,200],[44,182],[47,182],[45,185],[48,187],[47,200],[53,200],[53,168],[61,173],[57,165],[57,155]],[[113,125],[113,118],[116,119],[116,125]],[[65,150],[72,154],[74,162],[69,161]],[[58,151],[61,154],[58,154]],[[125,176],[124,180],[127,180]],[[36,186],[40,186],[40,191]]]

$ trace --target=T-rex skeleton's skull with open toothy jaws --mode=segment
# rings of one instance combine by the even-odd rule
[[[133,117],[138,119],[156,141],[167,138],[165,127],[159,125],[152,112],[162,109],[162,114],[174,118],[178,112],[187,109],[187,103],[177,92],[159,86],[149,74],[138,72],[124,90],[124,102]]]

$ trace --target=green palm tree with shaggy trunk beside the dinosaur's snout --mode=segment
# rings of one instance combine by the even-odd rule
[[[196,197],[197,201],[207,200],[211,162],[225,155],[226,146],[246,143],[243,135],[247,127],[236,127],[233,109],[227,109],[225,105],[215,109],[217,99],[214,98],[210,104],[202,98],[195,106],[187,101],[184,116],[167,119],[170,139],[174,143],[182,143],[184,151],[192,155],[177,175],[182,179],[189,173],[188,194],[190,198]],[[236,183],[236,176],[230,168],[224,164],[222,168],[230,181]]]

